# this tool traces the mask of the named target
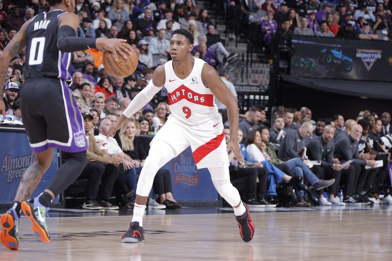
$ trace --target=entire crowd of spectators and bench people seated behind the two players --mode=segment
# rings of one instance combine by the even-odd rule
[[[241,34],[241,22],[245,19],[256,26],[256,32],[267,45],[277,35],[286,39],[293,33],[377,39],[371,30],[391,27],[388,0],[377,3],[374,0],[359,3],[355,0],[220,2],[227,16],[232,18],[227,28],[229,38]],[[0,9],[3,10],[0,13],[0,50],[3,50],[23,23],[35,14],[48,11],[49,5],[45,0],[0,2]],[[207,9],[198,8],[194,0],[76,0],[75,12],[80,18],[78,37],[123,38],[139,54],[137,71],[126,78],[108,75],[102,65],[103,49],[74,52],[70,65],[73,75],[70,88],[83,115],[90,144],[88,165],[79,177],[88,179],[83,208],[118,209],[110,202],[112,194],[116,195],[120,206],[132,206],[137,175],[149,149],[149,140],[143,137],[152,137],[170,114],[165,88],[132,116],[114,138],[106,139],[106,133],[135,95],[147,86],[153,69],[170,59],[172,31],[186,28],[192,32],[194,57],[216,67],[235,96],[235,87],[227,80],[225,67],[238,54],[226,50],[225,40],[212,23]],[[19,91],[23,88],[24,63],[25,52],[22,51],[8,68],[3,97],[6,114],[21,122]],[[225,106],[218,100],[216,104],[226,120]],[[266,127],[264,109],[252,107],[239,119],[238,137],[229,137],[228,129],[225,130],[227,142],[230,138],[238,138],[247,162],[245,167],[238,166],[233,153],[229,152],[232,182],[239,187],[244,200],[254,206],[270,207],[368,204],[369,198],[380,203],[378,193],[386,181],[388,151],[392,143],[391,136],[385,135],[392,132],[389,113],[384,113],[379,120],[376,115],[366,112],[344,124],[342,116],[313,122],[307,108],[298,112],[278,109],[270,129]],[[384,127],[387,133],[384,129],[381,132],[380,128]],[[346,146],[355,150],[347,154]],[[383,167],[366,168],[367,165],[374,167],[375,159],[382,160]],[[354,161],[343,167],[348,160]],[[320,165],[315,164],[317,161]],[[151,193],[150,208],[181,207],[172,195],[170,179],[167,170],[158,171],[153,185],[158,196]],[[328,199],[324,197],[325,188],[328,188]],[[386,202],[389,198],[386,197]]]

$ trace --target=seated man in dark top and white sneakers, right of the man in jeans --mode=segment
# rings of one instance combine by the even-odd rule
[[[335,183],[328,188],[328,201],[320,195],[321,206],[345,205],[345,203],[341,202],[339,198],[335,197],[338,195],[343,166],[339,163],[335,163],[333,159],[335,146],[332,140],[335,135],[334,131],[335,128],[333,126],[326,125],[323,128],[321,135],[313,138],[307,146],[307,155],[309,156],[309,159],[311,161],[321,162],[321,168],[324,170],[324,176],[329,179],[335,179]],[[349,166],[347,166],[347,171],[344,174],[349,176],[351,178],[350,180],[353,181],[353,178],[355,177],[355,168],[351,167],[348,170],[348,167]]]

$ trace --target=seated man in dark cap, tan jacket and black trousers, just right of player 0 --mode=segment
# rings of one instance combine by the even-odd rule
[[[88,138],[87,165],[78,179],[88,178],[85,209],[119,209],[109,200],[112,195],[113,185],[119,175],[121,158],[117,155],[109,156],[102,152],[91,134],[93,117],[90,113],[82,113],[84,119],[84,132]],[[99,186],[99,182],[101,185]]]

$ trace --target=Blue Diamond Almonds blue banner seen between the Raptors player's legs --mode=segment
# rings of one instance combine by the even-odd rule
[[[207,168],[197,169],[191,147],[162,168],[172,175],[173,195],[177,200],[218,200]]]

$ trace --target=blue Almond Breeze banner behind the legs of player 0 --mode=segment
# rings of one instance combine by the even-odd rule
[[[0,135],[0,202],[12,202],[23,172],[35,161],[35,158],[25,133],[1,132]],[[54,149],[51,165],[31,197],[37,196],[46,189],[57,168],[57,149]],[[53,201],[57,202],[58,197]]]

